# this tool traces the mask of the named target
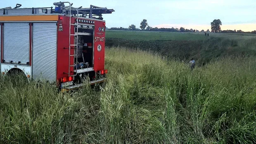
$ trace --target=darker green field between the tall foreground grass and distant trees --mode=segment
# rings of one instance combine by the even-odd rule
[[[166,33],[140,31],[106,31],[107,47],[129,47],[158,52],[168,59],[189,61],[199,65],[223,56],[256,56],[256,34],[239,33]]]

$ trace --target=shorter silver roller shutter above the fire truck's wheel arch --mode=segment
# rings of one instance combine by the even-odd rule
[[[26,64],[29,62],[29,24],[4,24],[4,59]]]

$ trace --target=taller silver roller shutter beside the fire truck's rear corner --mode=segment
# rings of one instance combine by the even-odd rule
[[[56,81],[56,23],[33,24],[32,76]]]

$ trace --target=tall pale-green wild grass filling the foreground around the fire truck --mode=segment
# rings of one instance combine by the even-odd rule
[[[158,54],[106,50],[108,80],[59,93],[0,77],[0,143],[256,143],[256,59],[191,71]]]

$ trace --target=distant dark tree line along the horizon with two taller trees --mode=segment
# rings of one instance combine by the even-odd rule
[[[244,32],[242,30],[221,30],[221,26],[222,23],[220,21],[220,19],[215,19],[213,20],[213,22],[211,22],[211,32],[214,32],[214,33],[254,33],[256,34],[256,31],[251,31],[251,32]],[[107,30],[113,30],[113,31],[159,31],[159,32],[202,32],[202,33],[205,33],[205,32],[210,32],[209,29],[207,29],[206,31],[204,30],[201,30],[201,31],[198,31],[198,30],[195,30],[195,29],[187,29],[187,28],[183,28],[183,27],[180,27],[180,28],[152,28],[151,26],[149,26],[147,24],[147,20],[146,19],[143,19],[140,23],[140,28],[137,28],[134,24],[131,24],[128,28],[123,28],[123,27],[120,27],[120,28],[106,28]]]

